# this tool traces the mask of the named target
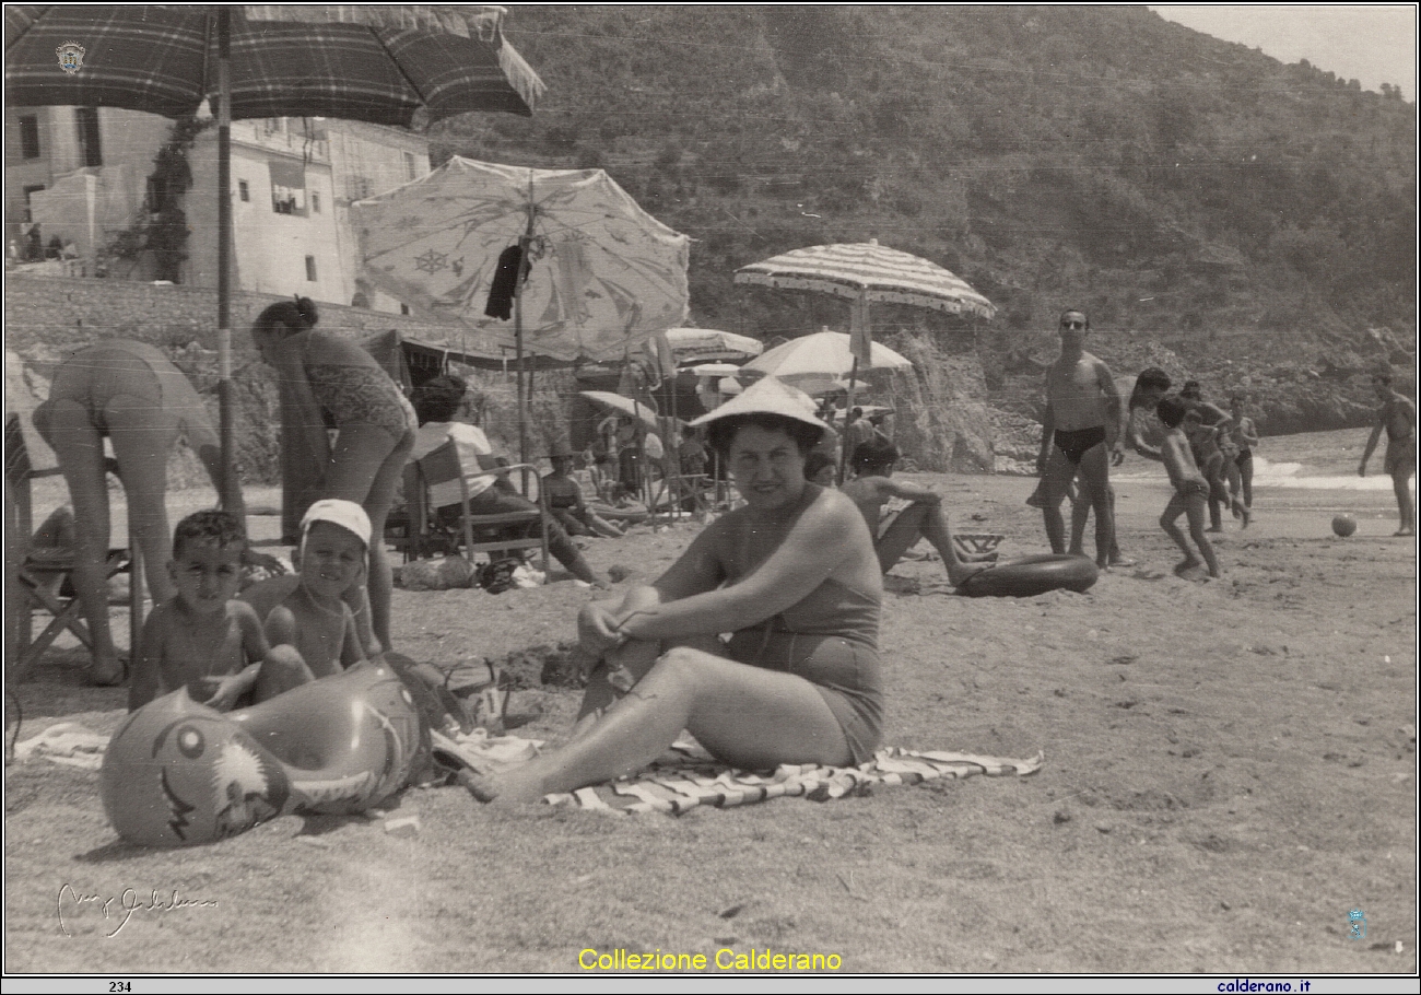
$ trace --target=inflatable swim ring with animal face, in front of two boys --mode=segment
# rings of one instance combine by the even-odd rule
[[[361,812],[429,756],[429,728],[388,667],[364,665],[217,712],[179,688],[129,715],[99,770],[129,843],[193,846],[293,812]]]

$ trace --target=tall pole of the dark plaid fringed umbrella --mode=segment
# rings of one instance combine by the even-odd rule
[[[232,9],[217,7],[217,438],[222,448],[222,506],[236,507],[232,384]]]

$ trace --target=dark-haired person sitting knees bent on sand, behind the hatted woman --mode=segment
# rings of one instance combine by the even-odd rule
[[[851,461],[855,476],[840,490],[858,505],[864,522],[868,523],[868,533],[874,536],[874,552],[878,553],[878,566],[884,573],[892,570],[892,566],[919,539],[926,539],[942,557],[942,563],[948,569],[948,580],[952,581],[953,587],[958,587],[983,569],[983,560],[995,559],[995,556],[990,553],[959,553],[956,543],[952,542],[948,516],[942,510],[942,496],[915,483],[892,480],[892,468],[897,461],[898,448],[888,439],[872,438],[861,443],[854,449]],[[901,498],[912,503],[898,515],[881,520],[884,502],[890,498]]]

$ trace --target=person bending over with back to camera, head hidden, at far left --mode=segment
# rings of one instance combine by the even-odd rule
[[[34,409],[34,428],[54,449],[74,502],[74,590],[94,638],[90,674],[95,684],[122,684],[124,665],[108,625],[108,486],[104,482],[104,436],[128,500],[128,529],[138,544],[155,604],[173,597],[168,561],[172,529],[163,496],[168,452],[188,439],[222,495],[222,505],[244,515],[236,478],[222,483],[222,458],[212,416],[198,391],[166,355],[125,338],[98,341],[58,368],[50,399]]]

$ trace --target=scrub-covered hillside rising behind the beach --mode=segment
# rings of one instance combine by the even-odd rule
[[[445,122],[436,158],[605,168],[696,239],[699,324],[844,327],[843,301],[733,271],[877,237],[999,314],[881,307],[875,335],[975,354],[1006,415],[1032,415],[1066,304],[1121,371],[1246,389],[1270,432],[1357,424],[1357,374],[1414,364],[1415,105],[1391,87],[1142,7],[516,6],[509,36],[546,102]]]

